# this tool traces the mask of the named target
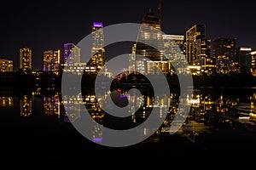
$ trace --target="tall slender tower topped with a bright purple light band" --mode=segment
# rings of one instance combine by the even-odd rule
[[[91,28],[92,47],[91,58],[87,63],[87,68],[91,68],[90,72],[101,71],[102,66],[105,65],[105,48],[104,48],[104,32],[102,22],[93,22]],[[96,71],[93,71],[96,70]]]

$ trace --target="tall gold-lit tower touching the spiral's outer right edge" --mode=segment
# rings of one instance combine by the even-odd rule
[[[189,65],[207,65],[211,40],[206,38],[206,26],[194,25],[186,31],[186,59]]]

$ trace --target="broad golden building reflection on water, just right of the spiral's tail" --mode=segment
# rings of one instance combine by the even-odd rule
[[[198,105],[192,105],[188,119],[183,125],[183,134],[193,142],[203,142],[203,135],[212,130],[235,129],[236,108],[239,99],[224,97],[220,94],[212,98],[210,95],[196,95]]]

